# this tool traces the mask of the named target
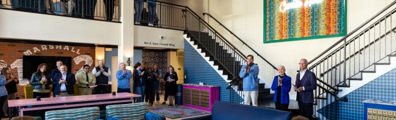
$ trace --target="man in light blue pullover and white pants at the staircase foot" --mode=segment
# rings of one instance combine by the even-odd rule
[[[243,90],[245,104],[257,106],[257,97],[259,96],[259,66],[253,63],[253,55],[247,57],[247,64],[243,65],[239,72],[239,77],[243,78]]]

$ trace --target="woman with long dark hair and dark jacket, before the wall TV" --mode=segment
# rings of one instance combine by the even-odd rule
[[[33,85],[33,98],[40,96],[50,97],[51,77],[48,73],[48,65],[42,63],[37,67],[37,71],[32,74],[30,84]]]

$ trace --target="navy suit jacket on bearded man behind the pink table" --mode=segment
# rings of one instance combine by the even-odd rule
[[[52,81],[54,87],[54,94],[58,95],[61,91],[61,84],[59,80],[62,78],[62,73],[55,74],[55,79]],[[76,76],[73,73],[66,73],[66,90],[68,94],[74,94],[74,84],[76,84]]]

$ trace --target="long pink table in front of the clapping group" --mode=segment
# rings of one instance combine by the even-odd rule
[[[78,95],[78,96],[61,96],[61,97],[49,97],[49,98],[41,98],[41,100],[36,100],[36,98],[31,99],[15,99],[8,100],[9,111],[11,111],[11,107],[19,107],[20,108],[20,116],[24,115],[24,111],[29,110],[40,110],[40,109],[52,109],[52,108],[64,108],[64,107],[75,107],[75,106],[87,106],[87,105],[97,105],[97,104],[111,104],[111,103],[121,103],[121,102],[133,102],[133,97],[140,97],[139,94],[133,94],[128,92],[117,93],[116,95],[112,95],[111,93],[107,94],[92,94],[92,95]],[[125,99],[130,98],[130,99]],[[119,100],[123,99],[123,100]],[[90,102],[92,101],[92,102]],[[100,101],[100,102],[95,102]],[[84,103],[78,103],[84,102]],[[59,105],[65,103],[63,105]],[[50,105],[56,104],[56,105]],[[49,106],[38,106],[38,107],[30,107],[24,108],[23,106],[29,105],[49,105]],[[11,119],[12,112],[9,112],[9,117]]]

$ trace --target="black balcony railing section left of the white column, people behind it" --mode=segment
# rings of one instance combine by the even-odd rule
[[[0,0],[0,8],[85,19],[120,21],[120,2],[121,0]]]

